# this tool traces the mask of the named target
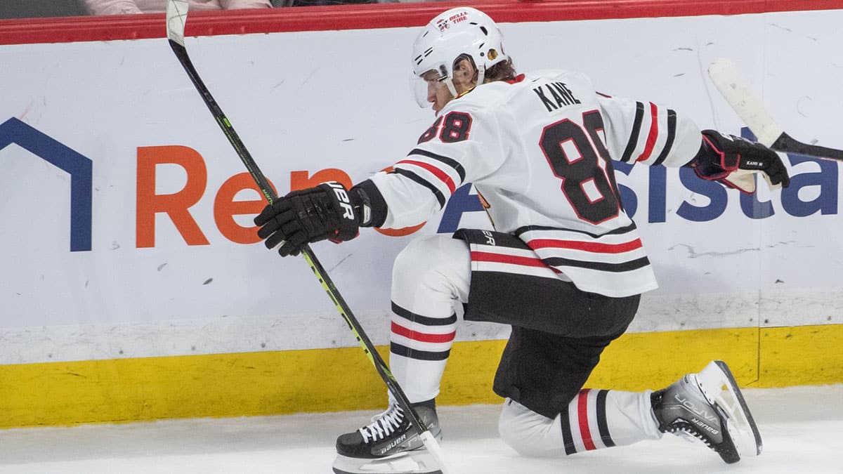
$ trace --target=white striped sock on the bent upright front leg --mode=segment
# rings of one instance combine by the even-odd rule
[[[450,236],[414,240],[395,259],[389,368],[411,402],[439,394],[470,273],[468,246]]]

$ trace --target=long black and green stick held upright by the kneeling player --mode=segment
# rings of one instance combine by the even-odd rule
[[[249,170],[249,174],[252,175],[252,178],[255,180],[255,184],[257,184],[260,188],[260,192],[263,193],[264,197],[266,197],[267,202],[272,203],[277,200],[275,191],[272,190],[272,187],[269,185],[269,181],[266,180],[266,177],[260,171],[260,168],[258,168],[258,165],[255,163],[255,159],[252,159],[251,154],[249,154],[249,150],[247,150],[243,142],[240,141],[240,137],[237,135],[237,132],[234,131],[234,127],[231,126],[231,122],[228,121],[228,118],[223,113],[223,110],[219,107],[219,105],[217,105],[217,101],[213,99],[211,92],[207,89],[205,83],[202,82],[199,77],[199,73],[196,72],[196,68],[193,67],[191,58],[187,55],[187,49],[185,48],[185,23],[187,21],[187,10],[187,0],[167,0],[167,38],[169,39],[169,46],[173,48],[173,52],[175,52],[175,56],[179,58],[181,66],[185,68],[185,72],[191,78],[193,85],[196,86],[196,90],[201,95],[202,100],[205,101],[208,110],[211,110],[211,115],[214,119],[216,119],[219,127],[223,129],[223,133],[225,133],[225,136],[228,138],[228,142],[231,143],[234,147],[234,151],[237,152],[240,160],[243,161],[246,169]],[[319,283],[322,283],[322,288],[325,288],[325,292],[328,293],[330,299],[332,299],[334,304],[336,304],[336,309],[339,310],[340,315],[342,315],[342,317],[346,320],[346,324],[348,324],[349,329],[351,329],[354,336],[357,337],[357,342],[360,342],[363,352],[366,353],[369,361],[371,361],[374,368],[377,369],[380,378],[384,380],[384,383],[387,388],[389,388],[389,391],[392,392],[393,396],[395,396],[395,400],[398,401],[400,407],[404,410],[413,428],[418,431],[425,447],[437,461],[441,470],[438,472],[441,474],[448,474],[443,462],[442,448],[439,446],[438,441],[433,437],[430,430],[427,429],[427,426],[425,426],[421,419],[416,416],[416,412],[413,412],[410,407],[410,401],[407,399],[404,391],[401,390],[400,385],[398,385],[398,382],[395,380],[395,376],[393,376],[392,372],[389,371],[389,367],[384,362],[384,359],[380,357],[378,351],[375,350],[373,343],[369,340],[366,332],[363,331],[363,328],[360,326],[357,318],[352,314],[352,310],[348,307],[348,304],[346,304],[346,300],[342,298],[342,295],[336,289],[336,286],[328,276],[328,272],[325,272],[325,267],[322,267],[322,264],[316,259],[316,256],[314,255],[313,250],[310,250],[309,245],[304,246],[302,249],[302,255],[304,256],[304,260],[308,262],[308,265],[311,270],[313,270],[316,277],[319,278]]]

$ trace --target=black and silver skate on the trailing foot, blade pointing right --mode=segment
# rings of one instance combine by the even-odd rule
[[[716,360],[651,395],[662,433],[701,440],[729,464],[761,454],[761,435],[726,363]]]

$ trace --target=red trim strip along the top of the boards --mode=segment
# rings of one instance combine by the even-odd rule
[[[841,8],[840,0],[483,0],[196,12],[188,36],[421,26],[470,3],[500,23],[742,14]],[[0,45],[164,38],[164,13],[0,19]]]

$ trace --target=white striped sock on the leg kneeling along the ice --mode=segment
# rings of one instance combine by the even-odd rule
[[[552,419],[507,399],[498,425],[501,438],[529,456],[572,455],[659,439],[650,393],[584,389]]]

